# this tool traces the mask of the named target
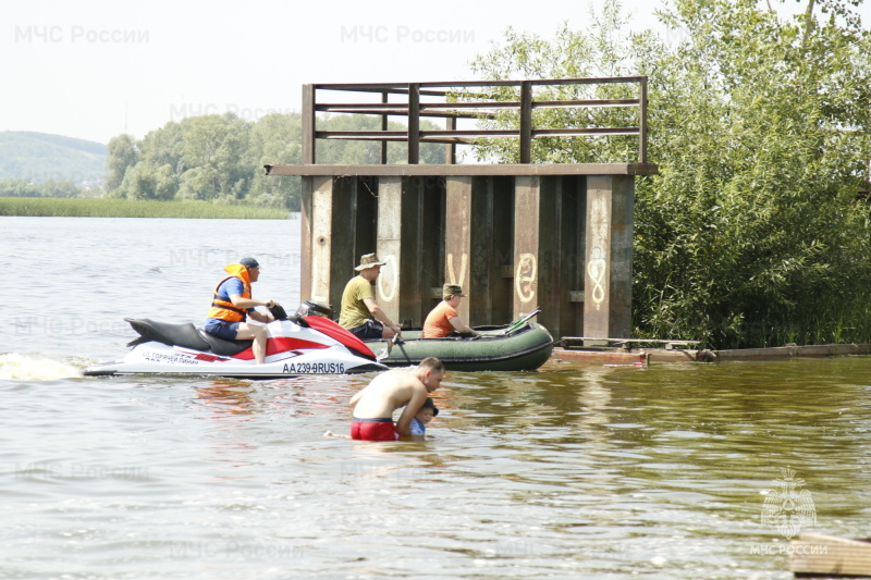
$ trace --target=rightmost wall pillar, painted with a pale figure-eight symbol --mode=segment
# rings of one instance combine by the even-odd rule
[[[633,176],[587,177],[584,336],[631,336],[634,206]]]

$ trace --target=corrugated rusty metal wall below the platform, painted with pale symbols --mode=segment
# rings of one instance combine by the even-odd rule
[[[338,309],[360,255],[377,251],[378,303],[413,328],[453,283],[471,325],[541,307],[555,336],[630,335],[630,175],[303,181],[302,299]]]

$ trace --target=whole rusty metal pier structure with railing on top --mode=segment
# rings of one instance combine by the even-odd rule
[[[625,85],[637,86],[637,97],[553,98],[557,89]],[[379,305],[408,326],[422,325],[441,285],[453,283],[468,294],[461,314],[471,325],[540,307],[554,336],[628,337],[635,176],[657,172],[647,162],[646,87],[645,77],[306,85],[303,164],[267,165],[270,175],[303,177],[300,298],[338,307],[359,257],[377,251],[387,261]],[[537,88],[551,92],[537,98]],[[318,103],[318,91],[380,99]],[[402,102],[390,102],[395,95]],[[538,109],[590,108],[635,108],[638,124],[533,126]],[[492,121],[506,109],[517,128],[457,128],[457,120]],[[381,129],[317,131],[318,111],[377,114]],[[405,116],[407,131],[389,131],[391,115]],[[421,129],[427,116],[447,119],[446,128]],[[627,135],[638,138],[636,162],[530,163],[536,138]],[[520,163],[454,164],[457,145],[494,137],[516,137]],[[316,140],[331,138],[380,141],[382,164],[317,164]],[[387,164],[390,140],[408,144],[407,164]],[[420,164],[421,143],[445,144],[446,163]]]

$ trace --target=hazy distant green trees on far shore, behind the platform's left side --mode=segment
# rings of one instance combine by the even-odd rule
[[[373,129],[380,120],[367,115],[338,115],[318,121],[321,128]],[[422,124],[424,128],[433,125]],[[302,159],[302,118],[272,113],[255,123],[234,114],[187,118],[149,132],[140,141],[113,138],[109,165],[109,195],[130,199],[200,199],[299,209],[298,177],[267,177],[267,163],[298,163]],[[402,125],[391,123],[390,128]],[[321,163],[379,163],[380,146],[335,140],[318,144]],[[132,155],[132,153],[135,155]],[[421,162],[443,163],[444,147],[424,144]],[[404,144],[390,144],[391,162],[404,162]],[[123,171],[122,171],[123,170]],[[114,183],[114,182],[113,182]]]

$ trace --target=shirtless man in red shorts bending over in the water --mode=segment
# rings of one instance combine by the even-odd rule
[[[412,419],[442,380],[444,365],[434,357],[425,358],[410,372],[392,370],[379,374],[351,399],[354,407],[351,439],[395,441],[398,436],[410,436]],[[394,428],[393,411],[402,406],[405,409]]]

